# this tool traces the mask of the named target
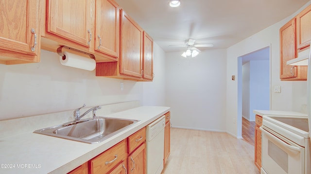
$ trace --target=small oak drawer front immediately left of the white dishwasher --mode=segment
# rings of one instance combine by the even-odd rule
[[[128,137],[128,153],[131,153],[146,140],[146,127]]]

